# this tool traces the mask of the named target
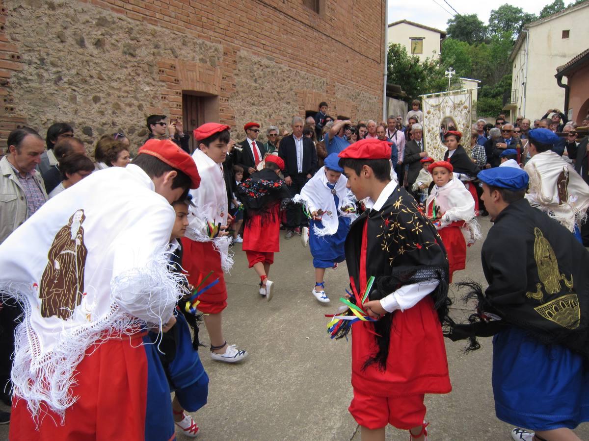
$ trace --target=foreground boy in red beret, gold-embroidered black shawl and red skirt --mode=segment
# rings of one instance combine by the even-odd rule
[[[421,441],[423,395],[452,389],[440,325],[450,304],[444,245],[415,199],[391,181],[389,142],[363,139],[339,157],[356,199],[369,198],[350,226],[346,263],[358,293],[375,276],[369,301],[358,307],[378,319],[352,325],[349,410],[363,441],[384,440],[388,423]]]

